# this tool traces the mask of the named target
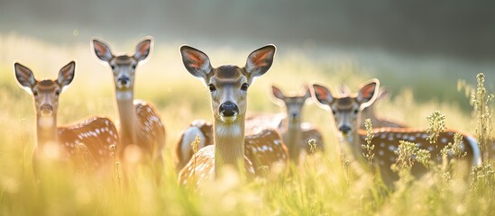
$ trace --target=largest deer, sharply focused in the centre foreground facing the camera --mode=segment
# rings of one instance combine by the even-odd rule
[[[234,168],[239,176],[249,180],[259,171],[257,167],[270,166],[275,161],[289,163],[287,148],[277,130],[266,129],[245,137],[248,89],[254,78],[270,69],[275,49],[274,45],[266,45],[252,51],[244,67],[212,67],[203,51],[188,45],[180,47],[188,73],[201,79],[210,92],[214,145],[201,148],[192,156],[179,172],[179,184],[213,180],[226,167]]]

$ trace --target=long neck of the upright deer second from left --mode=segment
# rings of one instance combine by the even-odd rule
[[[133,103],[133,91],[116,91],[119,112],[119,129],[122,147],[137,144],[136,117]]]

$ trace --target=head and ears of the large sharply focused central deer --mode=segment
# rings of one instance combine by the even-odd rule
[[[208,87],[215,120],[230,123],[245,115],[247,90],[255,77],[265,74],[271,67],[275,46],[254,50],[244,67],[212,67],[204,52],[189,46],[182,46],[180,53],[188,72],[201,78]]]

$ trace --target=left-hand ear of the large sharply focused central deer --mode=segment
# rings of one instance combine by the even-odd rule
[[[206,79],[206,76],[213,69],[210,64],[210,58],[198,49],[183,45],[180,47],[180,54],[182,55],[184,67],[188,69],[189,74],[192,76]]]

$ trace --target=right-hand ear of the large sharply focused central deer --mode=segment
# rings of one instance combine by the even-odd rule
[[[270,44],[252,51],[244,66],[248,74],[250,74],[251,77],[265,74],[273,63],[275,50],[275,46]]]

